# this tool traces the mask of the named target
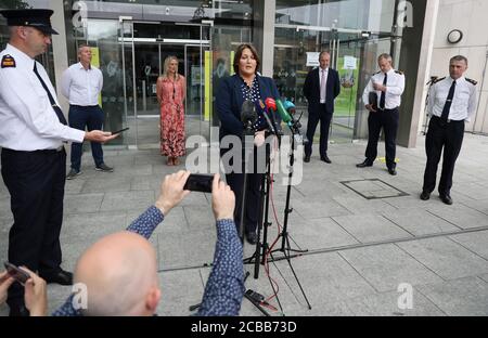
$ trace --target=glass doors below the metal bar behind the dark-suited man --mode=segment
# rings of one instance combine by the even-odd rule
[[[376,57],[389,52],[390,38],[374,38],[358,29],[307,27],[277,24],[274,44],[274,81],[281,95],[292,100],[299,113],[301,125],[307,126],[308,103],[304,83],[308,73],[319,66],[319,53],[331,54],[331,67],[339,74],[341,94],[336,98],[331,123],[330,142],[351,142],[364,128],[367,110],[362,104],[362,90],[369,76],[376,73]],[[375,36],[378,36],[376,34]],[[363,114],[364,113],[364,114]],[[320,129],[316,138],[320,136]]]

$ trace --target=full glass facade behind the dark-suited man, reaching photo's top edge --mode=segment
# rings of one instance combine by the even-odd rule
[[[335,101],[330,140],[350,142],[358,135],[360,102],[376,56],[401,43],[394,38],[395,0],[277,0],[273,77],[283,96],[305,112],[305,78],[318,66],[318,53],[331,53],[342,91]],[[393,42],[394,41],[394,42]]]

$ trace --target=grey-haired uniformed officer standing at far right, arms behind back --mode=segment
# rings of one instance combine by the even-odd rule
[[[442,173],[439,181],[439,197],[452,205],[450,195],[455,160],[461,152],[464,123],[470,122],[476,110],[476,81],[464,77],[467,58],[458,55],[450,60],[449,77],[434,82],[428,94],[427,112],[431,116],[425,139],[427,164],[421,199],[431,198],[436,187],[437,165],[444,148]]]

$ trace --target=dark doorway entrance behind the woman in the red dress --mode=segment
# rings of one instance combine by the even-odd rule
[[[163,26],[163,27],[162,27]],[[156,95],[157,78],[164,73],[168,56],[179,61],[178,72],[187,79],[185,135],[203,135],[209,139],[210,114],[206,110],[205,77],[210,67],[210,29],[206,24],[194,24],[188,29],[191,36],[182,37],[179,31],[168,29],[163,23],[138,23],[120,18],[120,49],[124,74],[124,116],[130,128],[126,144],[136,148],[159,147],[159,103]],[[150,28],[147,28],[150,27]],[[141,37],[152,31],[153,37]],[[162,32],[162,34],[157,34]],[[171,36],[171,32],[174,35]]]

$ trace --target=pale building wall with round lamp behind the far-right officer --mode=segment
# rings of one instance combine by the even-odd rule
[[[486,0],[440,0],[437,18],[431,75],[448,76],[449,60],[462,54],[468,58],[466,77],[478,81],[478,109],[476,118],[466,130],[488,133],[488,1]],[[452,29],[460,29],[464,37],[455,44],[447,36]]]

